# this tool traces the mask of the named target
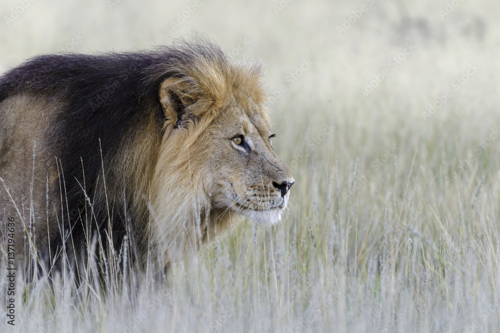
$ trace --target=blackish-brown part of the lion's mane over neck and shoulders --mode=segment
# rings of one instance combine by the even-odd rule
[[[54,164],[57,158],[59,178],[64,183],[62,193],[57,189],[57,194],[67,198],[63,204],[67,212],[57,219],[65,230],[71,230],[73,238],[83,238],[85,224],[81,212],[87,203],[80,186],[85,182],[91,200],[99,186],[102,161],[106,161],[104,167],[112,169],[111,161],[123,149],[127,133],[144,119],[155,119],[158,133],[162,131],[161,81],[185,76],[200,60],[227,61],[218,46],[205,41],[147,52],[41,55],[0,77],[0,102],[28,93],[58,105],[46,138],[49,146],[55,147],[50,154]],[[130,200],[124,198],[124,204],[133,209],[133,203],[127,202]],[[102,228],[108,209],[101,205],[93,210]],[[111,220],[113,243],[119,247],[125,233],[123,207],[112,211]],[[59,235],[50,247],[60,249],[64,242]]]

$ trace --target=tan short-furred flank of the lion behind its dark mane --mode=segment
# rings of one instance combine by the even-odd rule
[[[15,218],[15,249],[21,257],[29,250],[29,246],[19,246],[24,245],[22,220],[27,222],[28,230],[30,227],[33,229],[34,213],[41,215],[46,212],[46,180],[50,173],[46,167],[49,163],[45,154],[44,130],[53,110],[53,106],[30,94],[15,95],[0,103],[0,177],[3,179],[3,184],[0,184],[1,219]],[[45,214],[36,218],[46,221]],[[54,226],[51,226],[51,232]],[[45,232],[38,233],[37,239],[46,243],[49,233],[45,226],[43,229]]]

